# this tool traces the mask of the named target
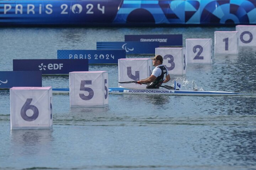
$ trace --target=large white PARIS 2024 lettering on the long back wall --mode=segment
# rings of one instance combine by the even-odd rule
[[[58,5],[58,6],[57,6]],[[67,15],[70,13],[80,14],[82,11],[86,11],[86,14],[94,14],[94,12],[101,11],[105,14],[105,6],[101,4],[1,4],[4,6],[4,10],[0,11],[0,14],[52,14],[53,12]],[[58,10],[58,11],[53,11]]]

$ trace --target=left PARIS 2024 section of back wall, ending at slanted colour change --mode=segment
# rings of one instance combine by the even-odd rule
[[[122,0],[0,0],[0,25],[111,23]]]

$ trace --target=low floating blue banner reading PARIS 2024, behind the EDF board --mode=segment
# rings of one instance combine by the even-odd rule
[[[125,50],[58,50],[58,59],[88,59],[89,64],[117,64]]]

